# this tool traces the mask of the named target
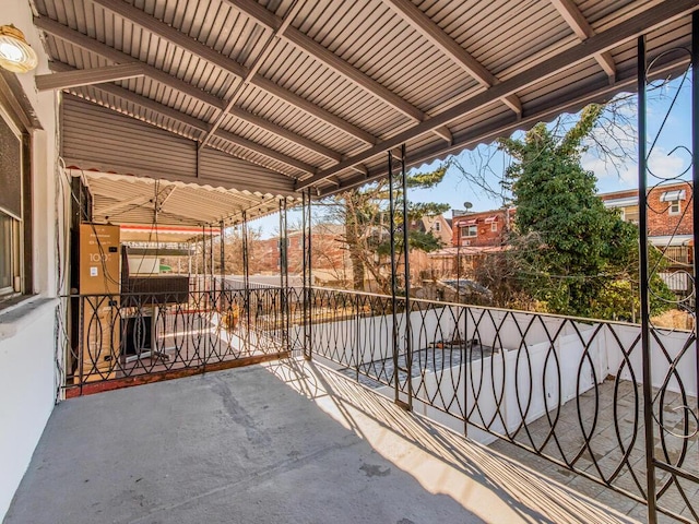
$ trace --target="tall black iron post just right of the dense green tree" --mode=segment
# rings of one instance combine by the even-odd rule
[[[651,326],[649,303],[648,272],[648,152],[645,115],[645,37],[638,37],[638,199],[639,199],[639,266],[640,266],[640,309],[641,309],[641,353],[643,365],[643,430],[645,438],[645,488],[648,502],[648,522],[657,522],[655,505],[655,464],[653,440],[653,384],[651,370]]]

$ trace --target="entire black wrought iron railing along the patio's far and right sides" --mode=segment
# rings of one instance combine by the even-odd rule
[[[221,286],[218,286],[221,287]],[[66,386],[319,359],[463,434],[647,501],[641,329],[322,288],[81,296]],[[695,334],[652,330],[660,511],[699,521]],[[252,359],[252,360],[251,360]]]

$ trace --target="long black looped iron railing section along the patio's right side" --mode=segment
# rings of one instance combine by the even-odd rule
[[[313,289],[313,358],[470,438],[647,500],[639,325],[410,305],[406,333],[404,299]],[[656,473],[659,511],[697,522],[695,335],[655,329],[652,355],[655,453],[673,468]]]

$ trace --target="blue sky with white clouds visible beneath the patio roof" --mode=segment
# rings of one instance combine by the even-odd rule
[[[627,95],[628,97],[628,95]],[[691,92],[690,79],[676,79],[663,87],[659,87],[649,95],[648,126],[649,126],[649,167],[652,176],[649,176],[649,186],[664,180],[671,180],[680,175],[690,166],[691,151]],[[616,131],[615,139],[631,140],[628,148],[637,150],[638,136],[636,98],[620,109],[620,115],[626,117]],[[573,120],[574,116],[568,116]],[[611,129],[609,126],[606,127]],[[517,135],[517,133],[516,133]],[[521,133],[519,133],[521,136]],[[657,136],[657,140],[655,138]],[[604,141],[603,133],[600,140]],[[608,139],[607,139],[608,140]],[[686,147],[687,151],[683,150]],[[496,151],[493,144],[483,144],[475,151],[465,151],[457,155],[457,160],[466,171],[476,172],[483,170],[484,158],[487,160],[486,180],[490,187],[498,188],[506,163],[510,162],[502,153]],[[410,154],[410,152],[408,152]],[[418,170],[434,169],[438,164],[424,165]],[[592,170],[597,177],[597,190],[600,192],[619,191],[638,187],[638,164],[635,157],[627,157],[624,162],[605,162],[594,147],[591,147],[582,156],[582,166]],[[690,172],[682,176],[690,179]],[[487,211],[501,205],[501,200],[494,198],[488,192],[470,183],[461,171],[451,167],[443,181],[429,190],[411,190],[410,196],[414,202],[447,203],[452,209],[463,209],[464,202],[473,204],[472,211]],[[450,216],[450,214],[448,213]],[[300,213],[289,212],[289,227],[300,221]],[[279,229],[279,216],[272,215],[251,223],[251,227],[261,228],[264,238],[276,235]]]

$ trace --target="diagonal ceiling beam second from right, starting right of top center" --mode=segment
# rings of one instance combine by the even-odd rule
[[[469,51],[461,47],[439,25],[427,16],[411,0],[383,0],[399,16],[407,22],[417,33],[433,43],[441,52],[451,59],[481,85],[491,87],[499,80],[486,67],[478,62]],[[514,93],[503,96],[502,102],[512,109],[518,117],[522,115],[522,103]]]

